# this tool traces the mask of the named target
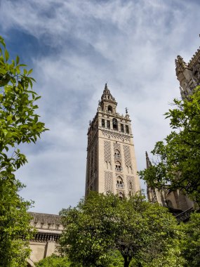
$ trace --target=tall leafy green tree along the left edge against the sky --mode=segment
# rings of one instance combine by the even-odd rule
[[[35,113],[39,96],[32,90],[31,72],[20,64],[18,56],[9,60],[4,39],[0,37],[0,263],[3,267],[26,266],[33,232],[27,214],[31,202],[18,195],[24,185],[15,178],[15,171],[27,162],[19,145],[35,143],[46,130]]]

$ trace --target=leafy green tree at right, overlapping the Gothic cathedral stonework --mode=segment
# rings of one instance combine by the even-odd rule
[[[174,105],[165,114],[172,131],[156,143],[156,162],[140,171],[140,178],[154,188],[180,189],[200,204],[200,86]]]

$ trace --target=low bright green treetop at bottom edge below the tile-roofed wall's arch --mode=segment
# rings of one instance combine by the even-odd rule
[[[45,259],[41,259],[38,263],[35,263],[36,267],[69,267],[70,262],[67,257],[57,256],[53,254]]]

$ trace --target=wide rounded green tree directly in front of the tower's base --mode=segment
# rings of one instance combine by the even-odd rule
[[[65,228],[60,250],[75,266],[114,266],[111,255],[116,250],[124,267],[150,266],[159,257],[166,258],[171,249],[171,266],[184,262],[174,217],[168,209],[149,204],[140,195],[120,200],[117,195],[91,193],[77,207],[62,209],[60,215]]]

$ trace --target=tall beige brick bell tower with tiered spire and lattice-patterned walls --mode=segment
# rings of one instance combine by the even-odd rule
[[[116,100],[105,84],[98,111],[88,129],[86,195],[90,190],[119,197],[140,190],[131,119],[116,112]]]

